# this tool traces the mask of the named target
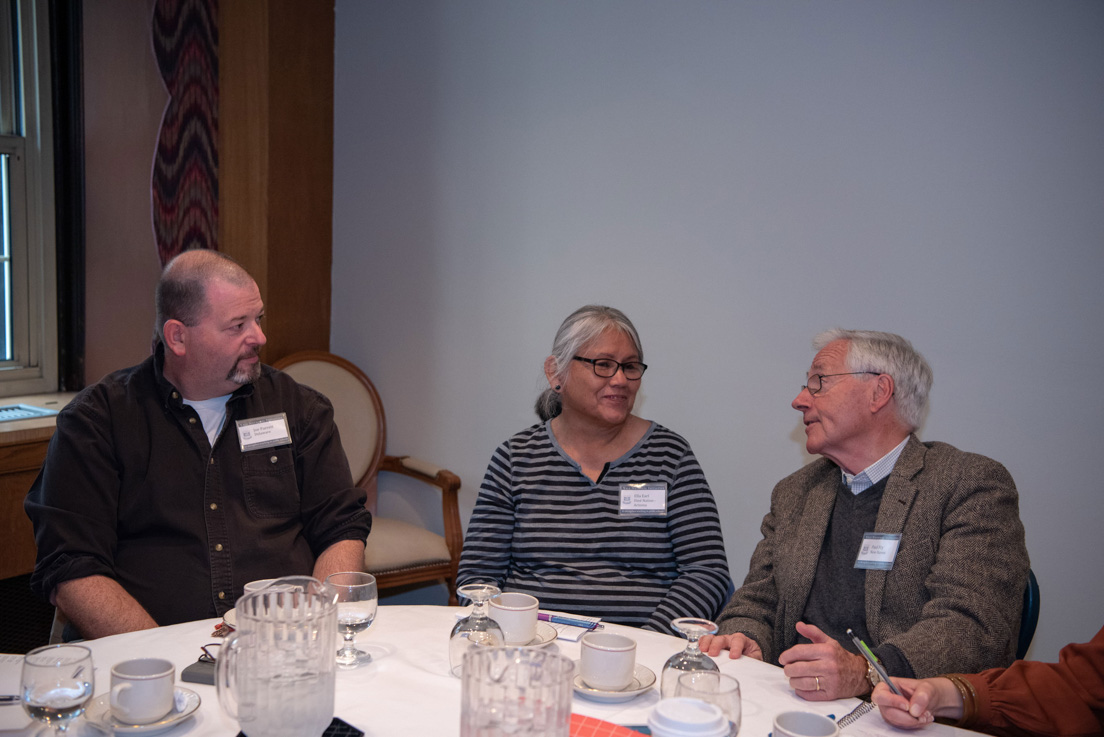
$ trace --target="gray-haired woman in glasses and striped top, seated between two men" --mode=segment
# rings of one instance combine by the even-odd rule
[[[636,328],[587,305],[544,360],[541,421],[491,457],[457,583],[493,580],[569,611],[668,631],[712,618],[730,579],[716,503],[690,446],[633,414]]]

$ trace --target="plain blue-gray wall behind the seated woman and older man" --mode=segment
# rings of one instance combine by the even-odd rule
[[[889,330],[935,370],[922,439],[1017,480],[1032,656],[1104,623],[1104,3],[337,11],[332,348],[378,383],[390,452],[460,474],[465,522],[560,321],[604,302],[739,580],[809,460],[789,403],[811,337]],[[385,512],[428,516],[389,483]]]

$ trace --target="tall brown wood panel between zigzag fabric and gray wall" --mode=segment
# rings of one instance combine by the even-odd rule
[[[265,300],[264,360],[329,350],[333,4],[220,3],[220,244]]]

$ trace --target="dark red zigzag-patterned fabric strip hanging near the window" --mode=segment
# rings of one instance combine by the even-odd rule
[[[163,266],[219,249],[219,2],[156,0],[151,34],[169,92],[150,183]]]

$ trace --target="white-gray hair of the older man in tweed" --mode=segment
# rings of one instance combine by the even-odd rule
[[[901,335],[874,330],[826,330],[813,339],[817,351],[828,343],[846,340],[848,371],[872,371],[893,377],[898,417],[915,430],[927,410],[932,367]]]

